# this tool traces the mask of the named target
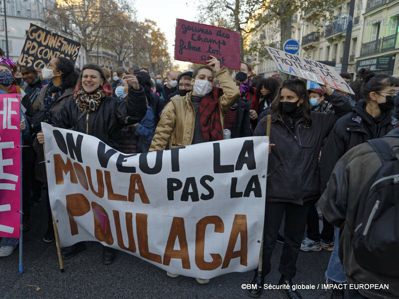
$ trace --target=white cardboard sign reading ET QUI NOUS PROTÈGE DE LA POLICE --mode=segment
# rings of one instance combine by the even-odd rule
[[[332,66],[271,47],[267,47],[267,51],[277,68],[283,73],[311,80],[321,85],[327,83],[331,88],[355,94]]]

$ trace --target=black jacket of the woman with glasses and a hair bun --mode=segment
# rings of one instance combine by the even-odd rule
[[[381,118],[382,121],[376,124],[366,112],[365,100],[360,100],[352,112],[337,121],[321,154],[321,193],[326,189],[335,164],[348,150],[370,139],[382,138],[394,129],[396,122],[392,119],[391,111]]]

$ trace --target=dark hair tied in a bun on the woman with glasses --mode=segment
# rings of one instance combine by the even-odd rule
[[[366,103],[370,101],[371,92],[382,91],[387,86],[399,86],[399,80],[393,76],[387,74],[376,75],[373,72],[367,73],[365,76],[361,77],[359,80],[360,85],[360,95],[365,99]]]

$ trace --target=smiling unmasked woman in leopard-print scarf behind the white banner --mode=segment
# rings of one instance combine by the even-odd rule
[[[55,58],[57,59],[57,58]],[[115,137],[128,125],[141,121],[147,111],[144,88],[134,75],[125,75],[131,86],[127,101],[111,97],[111,90],[104,73],[96,64],[83,66],[78,85],[73,93],[73,100],[67,102],[52,117],[51,123],[58,128],[95,136],[106,145],[117,148]],[[37,141],[44,143],[43,133],[37,134]],[[64,247],[62,257],[68,259],[85,249],[82,242]],[[115,255],[109,247],[103,246],[103,263],[112,264]]]

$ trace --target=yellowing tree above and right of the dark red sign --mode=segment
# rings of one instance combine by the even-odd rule
[[[308,21],[332,19],[334,10],[345,0],[205,0],[198,6],[201,22],[235,30],[241,35],[241,58],[261,52],[264,44],[252,41],[249,49],[243,37],[270,23],[279,24],[280,44],[291,38],[291,17],[311,11]]]

